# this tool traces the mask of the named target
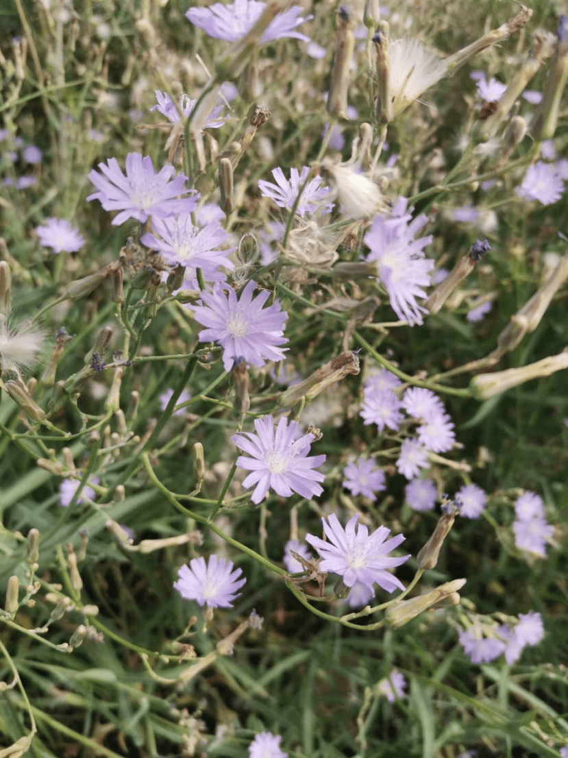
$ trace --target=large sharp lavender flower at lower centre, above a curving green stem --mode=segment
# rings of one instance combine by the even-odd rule
[[[345,529],[334,513],[329,516],[327,522],[322,518],[326,542],[314,534],[306,534],[306,542],[315,547],[323,558],[320,569],[341,576],[346,587],[353,587],[355,582],[360,582],[369,590],[373,590],[375,583],[386,592],[392,592],[397,588],[404,590],[404,584],[400,579],[386,570],[399,566],[410,558],[410,555],[387,557],[388,553],[404,542],[404,534],[397,534],[396,537],[386,540],[390,529],[379,526],[373,534],[369,534],[369,530],[363,524],[357,525],[355,531],[358,518],[358,513],[352,516]]]

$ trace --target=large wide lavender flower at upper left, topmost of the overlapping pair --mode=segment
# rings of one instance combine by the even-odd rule
[[[179,199],[179,195],[189,192],[184,189],[186,177],[175,175],[175,169],[167,164],[158,174],[154,171],[151,158],[142,158],[139,152],[126,155],[126,176],[120,170],[116,158],[107,163],[99,163],[98,171],[89,171],[89,179],[98,192],[87,200],[99,200],[105,211],[120,211],[112,223],[117,226],[129,218],[143,223],[148,216],[167,218],[176,213],[190,213],[197,205],[196,197]]]

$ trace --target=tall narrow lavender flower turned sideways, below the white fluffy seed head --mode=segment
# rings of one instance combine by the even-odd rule
[[[406,199],[399,198],[391,217],[376,216],[364,243],[370,249],[367,261],[377,262],[377,276],[398,318],[409,324],[423,324],[426,308],[417,298],[426,298],[423,287],[429,286],[429,272],[435,265],[423,250],[432,242],[432,236],[414,239],[428,218],[420,214],[413,221],[410,213],[405,214],[406,208]]]

